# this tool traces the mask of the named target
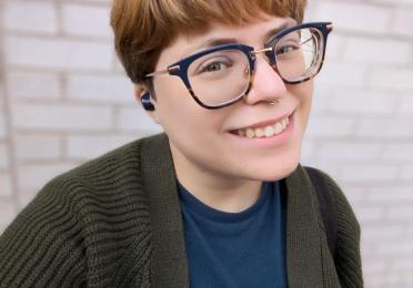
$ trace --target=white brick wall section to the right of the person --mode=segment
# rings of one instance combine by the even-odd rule
[[[309,19],[332,20],[335,31],[305,162],[330,172],[354,206],[365,287],[413,287],[413,2],[319,0],[310,8]]]

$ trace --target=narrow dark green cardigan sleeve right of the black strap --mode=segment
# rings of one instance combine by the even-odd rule
[[[343,288],[363,287],[360,256],[360,224],[345,195],[338,184],[324,174],[336,207],[338,241],[335,268]]]

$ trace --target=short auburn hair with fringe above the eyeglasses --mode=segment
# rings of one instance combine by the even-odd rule
[[[128,76],[142,83],[179,34],[202,33],[211,22],[241,25],[264,13],[301,23],[305,4],[306,0],[113,0],[114,47]]]

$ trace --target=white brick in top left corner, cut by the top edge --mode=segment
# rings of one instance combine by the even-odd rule
[[[56,33],[57,9],[53,2],[6,1],[3,25],[7,30]]]

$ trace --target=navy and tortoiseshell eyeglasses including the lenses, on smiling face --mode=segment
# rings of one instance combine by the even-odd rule
[[[264,53],[269,64],[286,84],[299,84],[314,78],[325,55],[331,22],[295,25],[271,37],[261,50],[244,44],[218,45],[184,58],[161,74],[179,76],[202,107],[229,106],[248,95],[251,90],[256,55]]]

